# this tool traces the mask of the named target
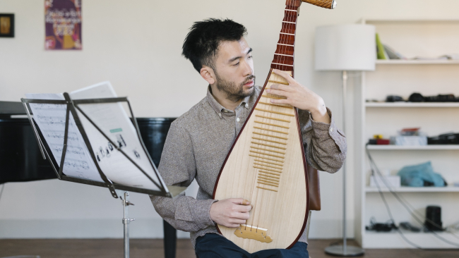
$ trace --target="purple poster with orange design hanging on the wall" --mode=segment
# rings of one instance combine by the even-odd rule
[[[81,0],[45,0],[44,25],[44,49],[82,49]]]

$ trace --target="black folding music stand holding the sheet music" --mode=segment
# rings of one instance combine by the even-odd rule
[[[133,111],[131,109],[131,104],[129,103],[129,100],[127,99],[127,97],[115,97],[115,98],[104,98],[104,99],[71,99],[69,94],[67,92],[64,92],[64,98],[65,98],[64,100],[55,100],[55,99],[21,99],[21,101],[23,102],[23,106],[24,106],[25,111],[26,111],[26,113],[28,115],[30,124],[32,125],[32,128],[34,130],[35,137],[37,139],[38,146],[40,147],[40,152],[42,153],[43,159],[48,159],[49,160],[49,162],[51,163],[51,166],[54,169],[54,172],[56,173],[56,176],[57,176],[57,178],[59,180],[64,180],[64,181],[73,182],[73,183],[82,183],[82,184],[85,184],[85,185],[95,185],[95,186],[99,186],[99,187],[102,187],[102,188],[108,188],[109,191],[110,191],[110,194],[112,195],[112,197],[114,197],[114,198],[118,198],[119,197],[121,199],[121,201],[123,203],[123,207],[124,207],[124,217],[123,217],[123,220],[122,220],[122,222],[124,224],[124,257],[125,258],[129,258],[129,223],[134,220],[134,219],[129,219],[129,217],[128,217],[128,207],[129,207],[129,205],[133,205],[131,202],[129,202],[129,192],[140,192],[140,193],[144,193],[144,194],[148,194],[148,195],[157,195],[157,196],[163,196],[163,197],[175,197],[175,196],[179,195],[181,192],[183,192],[186,188],[175,186],[175,185],[163,185],[162,184],[162,180],[159,180],[159,182],[160,182],[159,184],[156,183],[155,180],[153,180],[153,178],[151,178],[148,175],[148,173],[143,171],[141,166],[138,166],[138,164],[136,164],[136,162],[133,161],[133,159],[131,159],[121,149],[121,147],[119,147],[107,135],[105,135],[105,133],[103,133],[102,130],[100,130],[100,128],[94,123],[94,121],[92,121],[88,117],[88,115],[83,110],[81,110],[81,108],[78,106],[78,105],[83,105],[83,104],[106,104],[106,103],[126,102],[128,104],[128,106],[129,106],[129,112],[131,113],[132,123],[133,123],[134,127],[136,128],[136,133],[137,133],[137,136],[138,136],[138,140],[140,140],[141,146],[142,146],[145,154],[147,154],[148,160],[150,161],[151,166],[153,166],[153,168],[154,168],[155,175],[157,176],[157,178],[160,178],[160,174],[158,173],[157,168],[156,168],[155,164],[153,164],[153,160],[150,157],[150,154],[148,153],[147,149],[145,148],[145,145],[143,144],[143,141],[142,141],[142,138],[141,138],[141,134],[140,134],[140,131],[138,129],[138,124],[137,124],[136,118],[133,115]],[[42,135],[42,132],[41,132],[40,128],[38,127],[38,125],[34,121],[34,118],[32,116],[32,109],[30,109],[30,105],[29,104],[61,104],[61,105],[64,104],[64,105],[66,105],[66,118],[65,118],[66,121],[65,121],[65,129],[64,129],[64,147],[62,149],[62,156],[61,156],[60,164],[56,164],[55,159],[52,159],[52,157],[49,155],[49,153],[51,152],[51,149],[49,149],[49,145],[47,144],[47,142],[42,140],[44,137]],[[85,129],[83,128],[83,124],[81,123],[81,120],[78,118],[78,113],[76,112],[77,109],[78,109],[78,111],[81,112],[81,114],[86,119],[88,119],[88,121],[90,121],[90,123],[97,129],[97,131],[99,131],[99,133],[101,133],[112,144],[112,146],[116,147],[116,149],[119,152],[121,152],[121,154],[123,154],[134,166],[136,166],[138,168],[139,171],[141,171],[148,179],[150,179],[153,182],[153,184],[155,184],[157,186],[157,188],[159,188],[160,190],[158,191],[158,190],[148,190],[148,189],[143,189],[143,188],[134,188],[134,187],[131,187],[131,186],[128,186],[128,185],[121,185],[121,184],[113,183],[112,181],[110,181],[107,178],[107,176],[105,176],[105,173],[103,173],[103,171],[100,169],[99,164],[97,163],[97,159],[96,159],[95,154],[93,152],[93,147],[91,146],[91,144],[89,142],[88,135],[86,135]],[[93,159],[94,164],[95,164],[95,166],[97,168],[97,171],[99,172],[100,177],[102,178],[104,183],[98,182],[98,181],[94,181],[94,180],[86,180],[86,179],[82,179],[82,178],[73,178],[73,177],[70,177],[70,176],[66,176],[64,173],[62,173],[63,168],[64,168],[66,150],[67,150],[68,121],[69,121],[70,113],[73,116],[73,120],[75,121],[75,124],[76,124],[78,130],[80,131],[81,136],[83,137],[83,140],[85,142],[86,147],[88,147],[88,151],[89,151],[89,153],[91,155],[91,158]],[[118,194],[119,190],[123,191],[123,192],[120,192],[120,193],[122,193],[124,195],[124,197],[119,196],[119,194]],[[167,190],[169,190],[169,191],[167,191]]]

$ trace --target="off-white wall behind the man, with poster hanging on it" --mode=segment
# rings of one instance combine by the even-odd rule
[[[174,117],[205,96],[204,81],[180,55],[193,21],[233,18],[244,24],[260,84],[273,58],[285,1],[86,0],[83,51],[44,51],[43,4],[0,1],[1,13],[16,14],[16,37],[0,39],[0,100],[18,101],[26,92],[69,92],[110,80],[119,96],[129,96],[136,116]],[[354,23],[362,17],[458,18],[458,8],[454,0],[342,0],[334,11],[304,4],[297,29],[296,78],[325,99],[339,124],[340,73],[314,71],[316,26]],[[352,109],[349,112],[352,119]],[[347,166],[352,237],[352,156]],[[312,216],[311,238],[340,237],[341,185],[340,173],[321,173],[323,208]],[[131,217],[136,218],[131,236],[161,237],[160,217],[148,197],[132,193],[131,200],[136,204],[131,207]],[[57,180],[8,183],[0,200],[0,238],[121,238],[121,216],[121,202],[106,189]]]

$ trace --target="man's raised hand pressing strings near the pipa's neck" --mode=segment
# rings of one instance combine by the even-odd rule
[[[266,92],[270,94],[287,97],[287,99],[271,99],[271,103],[290,104],[298,109],[311,112],[314,121],[330,123],[330,116],[328,116],[325,103],[318,94],[300,85],[290,74],[283,70],[273,69],[273,73],[285,78],[289,85],[274,84],[271,85],[270,89],[266,89]]]

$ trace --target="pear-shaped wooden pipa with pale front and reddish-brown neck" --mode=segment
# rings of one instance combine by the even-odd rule
[[[303,0],[333,9],[334,0]],[[300,0],[287,0],[279,41],[263,90],[243,125],[215,183],[213,199],[244,198],[254,208],[239,228],[217,229],[247,252],[290,248],[301,237],[309,213],[308,177],[298,111],[268,94],[273,84],[288,85],[273,73],[294,75],[294,42]]]

